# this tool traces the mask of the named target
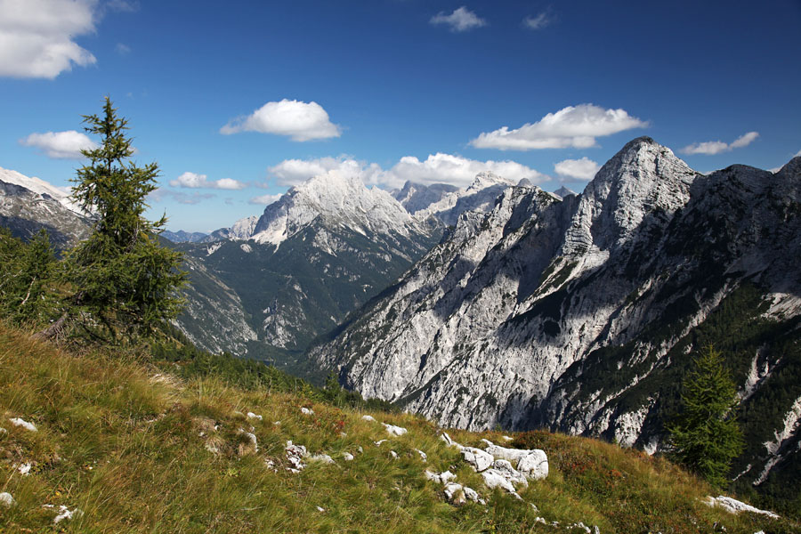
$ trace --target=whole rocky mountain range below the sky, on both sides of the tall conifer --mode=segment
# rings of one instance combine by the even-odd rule
[[[0,181],[19,235],[88,231],[60,190]],[[334,370],[441,425],[545,427],[653,453],[693,355],[714,344],[748,442],[732,477],[798,495],[799,214],[801,158],[700,174],[639,138],[580,194],[494,174],[387,192],[332,172],[230,228],[165,237],[184,241],[172,245],[191,281],[176,326],[195,344]]]

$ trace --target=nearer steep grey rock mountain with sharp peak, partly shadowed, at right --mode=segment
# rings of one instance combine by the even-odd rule
[[[775,414],[759,392],[786,392],[775,421],[747,428],[740,468],[756,481],[771,458],[799,456],[786,424],[801,397],[799,214],[801,158],[776,174],[703,175],[639,138],[578,196],[507,187],[488,213],[459,215],[312,358],[441,425],[547,427],[653,452],[694,351],[715,343],[746,410]],[[737,344],[743,328],[753,336]]]

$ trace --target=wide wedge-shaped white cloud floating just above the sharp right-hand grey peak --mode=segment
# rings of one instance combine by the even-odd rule
[[[587,149],[595,146],[595,137],[617,134],[648,123],[631,117],[624,109],[603,109],[594,104],[568,106],[548,113],[536,123],[510,130],[504,126],[485,132],[470,142],[479,149]]]

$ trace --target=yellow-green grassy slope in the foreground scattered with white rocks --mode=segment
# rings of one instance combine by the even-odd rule
[[[314,415],[304,416],[302,406]],[[247,421],[241,413],[248,411],[263,421]],[[712,490],[662,459],[559,434],[515,437],[545,449],[551,467],[545,481],[521,491],[520,502],[486,490],[432,423],[372,415],[409,433],[376,447],[390,438],[384,427],[350,409],[218,378],[159,374],[154,364],[120,354],[63,353],[0,325],[0,426],[8,431],[0,433],[0,491],[18,503],[0,508],[0,532],[565,532],[575,522],[603,533],[711,532],[715,522],[730,533],[799,531],[785,520],[708,508],[699,499]],[[9,417],[39,430],[12,426]],[[240,455],[247,440],[237,431],[251,425],[259,451]],[[210,437],[201,437],[204,429]],[[466,445],[502,441],[498,433],[451,435]],[[208,452],[206,440],[222,454]],[[288,473],[287,440],[329,454],[336,465]],[[427,463],[415,449],[425,450]],[[344,452],[355,460],[345,462]],[[21,475],[15,463],[33,464],[31,473]],[[449,505],[441,486],[425,480],[426,468],[456,472],[489,504]],[[85,514],[53,526],[56,512],[43,504]]]

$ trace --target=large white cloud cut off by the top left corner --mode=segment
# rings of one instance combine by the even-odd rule
[[[91,34],[97,0],[0,0],[0,76],[53,79],[97,60],[75,37]]]

